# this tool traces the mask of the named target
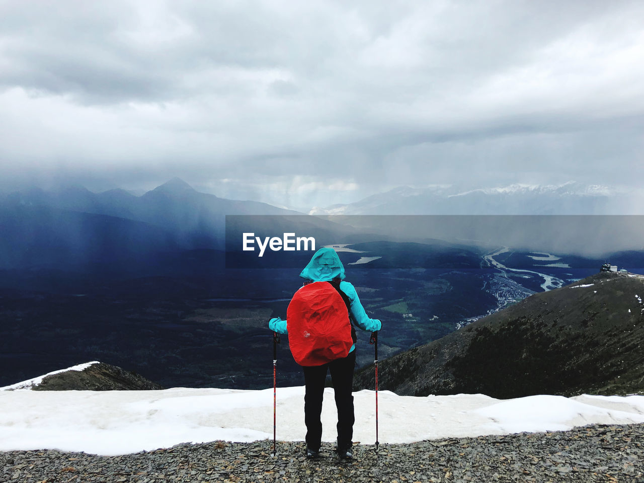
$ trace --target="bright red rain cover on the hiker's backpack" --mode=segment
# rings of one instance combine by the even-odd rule
[[[301,366],[321,366],[346,357],[354,341],[345,302],[327,281],[295,292],[287,309],[290,352]]]

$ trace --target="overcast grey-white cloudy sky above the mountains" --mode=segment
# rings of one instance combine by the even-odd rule
[[[641,1],[0,1],[0,189],[644,178]]]

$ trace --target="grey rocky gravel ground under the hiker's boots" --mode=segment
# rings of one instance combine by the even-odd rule
[[[307,460],[303,442],[216,441],[117,457],[61,451],[0,453],[0,482],[629,482],[644,483],[644,424],[572,431],[356,444],[336,459],[331,444]]]

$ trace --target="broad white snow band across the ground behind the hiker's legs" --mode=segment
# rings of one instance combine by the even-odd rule
[[[304,440],[303,386],[277,389],[277,439]],[[354,440],[375,442],[375,393],[354,393]],[[406,443],[584,424],[644,422],[644,396],[538,395],[502,401],[482,394],[427,397],[380,391],[379,440]],[[322,439],[336,439],[332,388],[325,389]],[[0,451],[121,455],[181,442],[271,439],[273,390],[0,392]],[[279,443],[278,443],[279,444]]]

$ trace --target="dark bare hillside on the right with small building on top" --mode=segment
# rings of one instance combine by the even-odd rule
[[[600,272],[540,292],[379,367],[400,395],[644,393],[644,276]],[[374,387],[374,370],[355,378]]]

